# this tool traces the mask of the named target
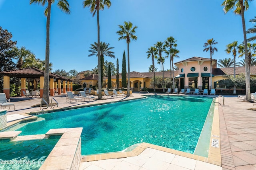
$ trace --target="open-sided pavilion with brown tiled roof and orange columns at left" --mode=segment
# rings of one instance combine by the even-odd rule
[[[34,90],[36,90],[36,80],[40,80],[40,98],[43,96],[44,89],[44,71],[38,68],[29,67],[21,68],[17,70],[8,70],[0,72],[0,75],[4,76],[4,93],[6,98],[10,98],[10,77],[21,78],[21,91],[26,90],[26,78],[34,79]],[[63,83],[63,93],[66,93],[66,82],[67,91],[73,90],[73,81],[70,78],[60,76],[58,74],[49,73],[49,86],[50,86],[50,96],[54,96],[54,90],[57,90],[58,82],[58,94],[61,94],[61,84]],[[62,82],[62,83],[61,83]],[[21,93],[21,96],[24,94]]]

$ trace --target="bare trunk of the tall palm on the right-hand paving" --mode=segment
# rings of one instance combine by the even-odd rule
[[[244,1],[239,0],[239,4],[241,7],[241,17],[242,17],[242,25],[243,25],[243,33],[244,33],[244,55],[245,55],[245,100],[251,100],[251,90],[250,90],[250,66],[248,59],[248,47],[247,47],[247,39],[246,39],[246,28],[244,21]]]

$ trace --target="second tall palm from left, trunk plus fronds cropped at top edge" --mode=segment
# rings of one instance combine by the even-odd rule
[[[101,92],[101,59],[100,59],[100,10],[104,10],[104,6],[109,8],[111,6],[110,0],[85,0],[83,2],[83,7],[90,7],[90,12],[92,13],[92,17],[94,17],[95,13],[97,12],[97,28],[98,28],[98,89]],[[98,99],[102,99],[102,94],[99,93]]]

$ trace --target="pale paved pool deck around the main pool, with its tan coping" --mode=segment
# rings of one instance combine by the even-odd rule
[[[133,93],[128,99],[140,97],[142,96],[138,93]],[[125,98],[114,98],[70,104],[66,103],[65,95],[57,95],[54,98],[59,103],[58,108],[126,100]],[[8,109],[7,125],[12,125],[24,119],[34,119],[34,116],[26,115],[25,113],[40,111],[40,107],[30,107],[40,103],[39,98],[11,98],[11,102],[15,104],[16,110],[14,111],[13,108]],[[216,104],[212,135],[214,135],[213,138],[220,139],[220,148],[210,147],[208,158],[142,143],[130,152],[84,156],[79,169],[255,170],[256,111],[248,110],[248,108],[256,108],[256,106],[253,106],[252,103],[238,100],[236,96],[225,96],[224,106]],[[218,165],[222,165],[222,167]]]

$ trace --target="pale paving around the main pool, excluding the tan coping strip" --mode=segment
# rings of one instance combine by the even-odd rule
[[[65,96],[64,94],[54,96],[59,103],[58,108],[125,100],[125,98],[114,98],[93,102],[66,103]],[[129,99],[140,97],[138,93],[133,93]],[[15,119],[15,116],[17,119],[24,117],[20,116],[20,113],[40,111],[40,107],[30,107],[39,104],[39,98],[11,98],[11,102],[15,104],[16,110],[14,111],[13,107],[8,109],[7,117],[12,116],[12,119]],[[256,106],[232,96],[225,96],[225,105],[219,107],[223,170],[256,170],[256,111],[248,110],[248,108],[256,108]],[[82,162],[80,169],[218,170],[220,166],[147,148],[138,156]]]

